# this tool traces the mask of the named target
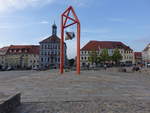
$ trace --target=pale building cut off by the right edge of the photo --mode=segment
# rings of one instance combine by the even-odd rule
[[[150,44],[142,51],[142,59],[146,64],[150,63]]]

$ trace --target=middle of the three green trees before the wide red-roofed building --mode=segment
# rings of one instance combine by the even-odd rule
[[[101,52],[101,54],[100,54],[100,59],[101,59],[101,61],[103,61],[104,63],[106,62],[106,61],[109,61],[110,60],[110,56],[109,56],[109,54],[108,54],[108,49],[103,49],[102,50],[102,52]]]

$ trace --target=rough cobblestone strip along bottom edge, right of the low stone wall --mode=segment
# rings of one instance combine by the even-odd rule
[[[13,113],[150,113],[150,103],[95,100],[85,102],[23,103]]]

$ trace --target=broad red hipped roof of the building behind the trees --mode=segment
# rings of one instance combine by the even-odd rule
[[[93,51],[104,48],[107,49],[121,48],[133,51],[129,46],[126,46],[122,42],[116,41],[90,41],[81,49],[81,51]]]

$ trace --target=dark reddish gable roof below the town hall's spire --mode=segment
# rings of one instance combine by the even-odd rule
[[[60,38],[57,37],[56,35],[52,35],[44,40],[42,40],[40,43],[49,43],[49,42],[57,42],[59,43],[60,42]]]

